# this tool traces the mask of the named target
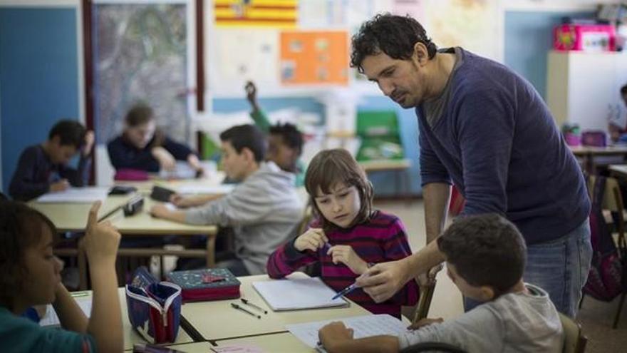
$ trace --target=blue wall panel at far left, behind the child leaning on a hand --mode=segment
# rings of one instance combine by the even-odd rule
[[[78,119],[74,8],[0,8],[2,188],[19,153],[61,118]]]

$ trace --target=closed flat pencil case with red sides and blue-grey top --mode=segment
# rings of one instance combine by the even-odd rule
[[[183,302],[239,298],[241,283],[226,268],[174,271],[167,280],[181,287]]]

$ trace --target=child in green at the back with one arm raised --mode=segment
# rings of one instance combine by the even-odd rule
[[[291,123],[270,125],[266,113],[259,108],[257,102],[257,87],[251,81],[245,86],[246,98],[252,107],[251,118],[261,131],[268,133],[268,154],[266,160],[271,160],[279,168],[296,174],[296,186],[304,185],[305,165],[300,160],[303,153],[303,134]]]

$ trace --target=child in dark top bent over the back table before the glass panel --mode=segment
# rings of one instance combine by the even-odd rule
[[[157,173],[161,169],[175,170],[176,160],[187,160],[193,170],[203,173],[197,155],[157,129],[154,111],[142,104],[128,111],[124,132],[109,141],[107,150],[116,170],[137,169]]]

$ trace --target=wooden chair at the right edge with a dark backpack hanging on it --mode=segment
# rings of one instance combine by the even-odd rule
[[[591,176],[588,179],[588,190],[589,193],[594,191],[594,181],[595,177]],[[590,195],[591,199],[594,200],[593,195]],[[618,254],[623,258],[623,262],[627,261],[625,258],[627,256],[627,240],[625,238],[625,208],[623,203],[623,197],[621,195],[621,188],[618,185],[618,180],[616,178],[606,178],[605,190],[603,190],[603,216],[606,218],[606,222],[611,223],[613,225],[615,234],[614,240],[616,242],[616,247],[618,249]],[[625,275],[623,273],[623,275]],[[625,279],[623,278],[623,282]],[[624,286],[623,286],[624,287]],[[618,309],[616,309],[616,315],[614,315],[614,321],[612,324],[612,328],[616,329],[618,327],[618,320],[621,318],[621,312],[623,309],[623,304],[625,303],[625,298],[627,296],[627,290],[623,290],[620,295],[620,299],[618,300]],[[581,297],[581,302],[579,303],[579,307],[583,305],[584,295]]]

